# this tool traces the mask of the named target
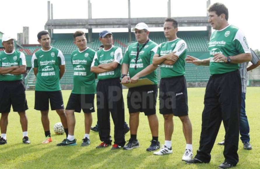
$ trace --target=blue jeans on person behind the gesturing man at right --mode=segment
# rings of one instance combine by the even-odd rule
[[[241,95],[241,111],[240,111],[240,121],[239,121],[239,132],[240,132],[240,139],[244,142],[249,142],[249,124],[247,120],[247,116],[245,114],[245,93]]]

